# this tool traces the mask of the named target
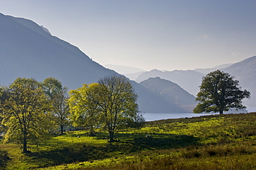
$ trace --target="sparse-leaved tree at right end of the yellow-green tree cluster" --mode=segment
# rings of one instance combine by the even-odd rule
[[[137,94],[131,83],[123,76],[111,75],[98,81],[98,101],[102,113],[103,127],[109,132],[109,140],[113,142],[113,134],[133,122],[137,118]]]

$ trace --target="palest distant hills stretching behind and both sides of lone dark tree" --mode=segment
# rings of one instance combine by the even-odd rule
[[[209,69],[174,70],[165,72],[151,70],[140,74],[138,78],[136,78],[136,82],[140,83],[148,78],[160,77],[180,85],[187,92],[196,96],[199,92],[202,77],[215,70],[228,72],[231,76],[235,76],[235,80],[239,81],[239,85],[242,89],[247,89],[252,96],[250,99],[245,99],[244,104],[250,107],[256,107],[256,56],[252,56],[239,63],[218,65],[217,67]]]

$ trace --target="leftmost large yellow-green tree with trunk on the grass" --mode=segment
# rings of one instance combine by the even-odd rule
[[[1,105],[2,124],[8,127],[5,141],[22,143],[27,152],[28,140],[44,138],[50,129],[46,114],[46,96],[34,78],[17,78]]]

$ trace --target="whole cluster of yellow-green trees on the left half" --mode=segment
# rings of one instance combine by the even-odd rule
[[[4,142],[21,144],[28,152],[28,142],[50,137],[58,127],[88,127],[114,133],[125,127],[138,127],[145,119],[138,111],[138,96],[123,76],[100,78],[98,83],[84,84],[68,92],[56,78],[43,82],[35,78],[17,78],[9,87],[0,87],[1,131]],[[1,132],[0,131],[0,132]]]

